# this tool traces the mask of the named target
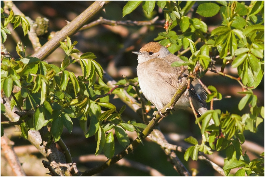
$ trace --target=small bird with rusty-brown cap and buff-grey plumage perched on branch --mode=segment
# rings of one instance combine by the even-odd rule
[[[149,42],[140,51],[132,53],[138,55],[137,75],[142,93],[158,110],[161,110],[170,102],[179,87],[177,77],[181,67],[171,67],[171,64],[182,60],[158,42]],[[189,95],[197,113],[202,115],[207,111],[206,92],[196,80],[191,83],[189,92],[179,98],[175,108],[190,108]]]

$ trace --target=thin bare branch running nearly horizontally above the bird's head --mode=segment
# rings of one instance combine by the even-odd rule
[[[130,21],[130,20],[125,20],[125,21],[114,21],[114,20],[108,20],[103,17],[100,17],[98,20],[93,21],[87,25],[84,25],[82,28],[80,28],[79,31],[81,30],[86,30],[89,29],[93,26],[99,25],[99,24],[104,24],[104,25],[111,25],[111,26],[117,26],[117,25],[123,25],[123,26],[146,26],[146,25],[161,25],[163,26],[165,21],[157,21],[158,16],[153,18],[150,21]]]

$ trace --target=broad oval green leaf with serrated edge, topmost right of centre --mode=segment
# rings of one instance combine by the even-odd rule
[[[220,6],[214,3],[203,3],[198,6],[196,13],[203,17],[215,16],[220,10]]]

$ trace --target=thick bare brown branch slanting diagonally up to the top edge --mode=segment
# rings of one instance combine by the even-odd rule
[[[84,24],[91,20],[97,13],[99,13],[110,1],[95,1],[84,12],[77,16],[73,21],[64,26],[62,30],[56,33],[52,39],[46,42],[33,57],[44,60],[49,56],[57,47],[60,46],[60,41],[63,41],[66,36],[74,35]]]

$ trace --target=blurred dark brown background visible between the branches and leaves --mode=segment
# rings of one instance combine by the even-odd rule
[[[89,7],[93,1],[13,1],[13,3],[31,19],[35,21],[37,17],[45,17],[49,20],[49,32],[61,30],[67,21],[72,21],[81,12],[83,12],[87,7]],[[92,21],[103,17],[108,20],[114,21],[149,21],[154,17],[158,16],[158,21],[164,20],[164,14],[162,10],[156,5],[154,12],[148,16],[142,9],[141,6],[136,8],[135,11],[122,17],[122,9],[127,2],[124,1],[113,1],[111,2],[104,11],[100,12],[94,17]],[[246,1],[246,4],[249,1]],[[185,3],[182,3],[183,6]],[[181,4],[181,5],[182,5]],[[3,6],[1,1],[1,6]],[[194,6],[194,11],[191,15],[196,18],[202,18],[196,14],[196,4]],[[220,14],[211,18],[202,18],[202,20],[208,25],[208,30],[211,31],[217,26],[220,26],[222,19]],[[90,21],[90,22],[92,22]],[[177,34],[181,34],[179,26],[174,28]],[[28,36],[24,37],[22,27],[16,28],[16,33],[23,41],[26,46],[26,54],[34,53],[32,45],[28,39]],[[81,52],[93,52],[97,56],[96,61],[101,64],[103,69],[108,72],[116,81],[122,79],[122,74],[126,75],[129,79],[137,77],[136,67],[137,67],[137,56],[132,54],[131,51],[140,50],[140,48],[150,41],[154,41],[159,32],[164,32],[163,25],[152,25],[152,26],[110,26],[110,25],[96,25],[92,28],[79,31],[75,35],[71,36],[71,40],[78,41],[76,48]],[[47,42],[49,33],[40,36],[40,42],[43,45]],[[16,44],[18,38],[14,38],[11,35],[7,36],[5,46],[7,50],[15,57],[18,58],[16,53]],[[197,48],[203,43],[198,43]],[[181,49],[183,50],[183,49]],[[190,57],[191,52],[185,53],[186,57]],[[61,48],[55,50],[45,61],[49,64],[55,64],[60,66],[62,60],[65,56],[64,51]],[[217,61],[218,64],[221,61]],[[221,65],[219,66],[221,67]],[[74,72],[76,76],[81,75],[81,67],[78,64],[71,64],[68,68],[69,71]],[[226,67],[226,74],[230,74],[238,77],[237,70],[232,69],[229,66]],[[225,78],[218,74],[207,72],[202,78],[205,85],[213,85],[222,94],[223,99],[221,101],[214,102],[214,109],[220,109],[222,112],[226,110],[230,113],[236,113],[243,115],[249,112],[248,106],[242,111],[238,110],[238,103],[240,99],[244,96],[238,94],[237,92],[242,91],[242,87],[237,81]],[[259,105],[264,106],[264,77],[261,84],[253,90],[254,94],[257,95],[259,99]],[[119,110],[124,103],[119,99],[114,99],[114,95],[111,96],[110,102],[113,103]],[[230,96],[230,98],[225,98],[225,96]],[[210,106],[209,106],[210,107]],[[123,118],[125,120],[139,119],[139,115],[134,113],[130,108],[126,108],[123,113]],[[1,115],[1,120],[4,121],[3,115]],[[73,120],[74,129],[72,134],[69,134],[65,130],[62,134],[62,139],[66,145],[70,148],[73,161],[77,162],[77,167],[80,171],[85,171],[87,169],[93,168],[106,161],[103,157],[97,156],[98,159],[94,159],[94,154],[96,152],[96,142],[94,137],[85,139],[84,133],[79,127],[79,122]],[[160,128],[169,143],[180,145],[183,147],[189,147],[190,145],[184,142],[184,139],[193,136],[199,141],[201,139],[201,133],[198,125],[195,124],[195,118],[193,113],[176,110],[172,112],[167,118],[164,118],[160,122]],[[38,153],[33,145],[23,138],[19,138],[20,132],[16,130],[15,127],[5,127],[5,132],[15,143],[14,149],[18,154],[20,162],[23,164],[23,168],[28,176],[43,176],[49,173],[47,169],[43,167],[41,161],[44,157]],[[137,137],[136,134],[129,134],[130,139],[134,140]],[[249,131],[244,133],[247,141],[243,146],[243,152],[247,151],[250,159],[255,159],[259,155],[259,151],[253,152],[249,148],[259,149],[264,151],[264,122],[258,127],[258,133],[254,134]],[[248,144],[254,142],[255,144]],[[119,143],[115,144],[115,154],[123,150],[123,147]],[[263,150],[262,150],[263,149]],[[260,152],[261,153],[261,152]],[[87,156],[90,155],[90,156]],[[183,159],[184,153],[178,153],[178,157],[184,163],[188,169],[197,170],[197,176],[219,176],[219,173],[215,172],[210,166],[204,162],[189,160],[186,162]],[[212,155],[213,161],[222,166],[223,157],[225,152],[215,153]],[[167,161],[167,157],[159,145],[148,139],[144,140],[144,146],[139,145],[133,154],[129,154],[125,159],[131,160],[132,164],[141,164],[150,166],[165,176],[178,176],[178,173],[172,168],[172,165]],[[195,170],[196,169],[196,170]],[[1,153],[1,176],[13,176],[12,171],[5,161],[4,156]],[[160,174],[159,176],[161,176]],[[124,164],[114,164],[110,168],[103,171],[103,173],[97,174],[96,176],[150,176],[151,173],[148,171],[142,171],[139,168],[133,168],[132,165],[126,166]],[[50,176],[50,175],[47,175]]]

